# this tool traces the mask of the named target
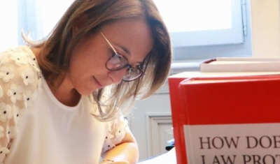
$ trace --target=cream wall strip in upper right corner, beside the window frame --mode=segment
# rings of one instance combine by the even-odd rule
[[[253,57],[280,57],[279,0],[251,0]]]

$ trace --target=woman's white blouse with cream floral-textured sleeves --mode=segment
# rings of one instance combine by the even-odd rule
[[[99,163],[129,129],[93,112],[87,96],[68,107],[52,95],[29,47],[0,54],[0,163]]]

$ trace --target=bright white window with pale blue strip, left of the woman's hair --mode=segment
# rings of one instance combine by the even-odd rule
[[[73,0],[0,0],[0,52],[47,36]]]

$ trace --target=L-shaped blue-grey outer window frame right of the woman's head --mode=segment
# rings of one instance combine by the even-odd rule
[[[251,5],[250,0],[240,0],[244,6],[243,28],[244,42],[240,44],[225,45],[200,45],[200,46],[176,46],[173,45],[174,63],[202,62],[216,57],[252,57],[251,37]],[[245,13],[245,14],[244,14]]]

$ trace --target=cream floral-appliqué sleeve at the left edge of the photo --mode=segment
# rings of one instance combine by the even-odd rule
[[[9,153],[18,125],[41,90],[41,73],[28,47],[0,53],[0,163]]]

